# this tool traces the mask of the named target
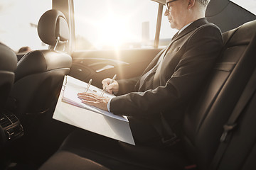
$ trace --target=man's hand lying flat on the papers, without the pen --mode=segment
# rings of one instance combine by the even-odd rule
[[[90,106],[95,106],[104,111],[107,111],[107,103],[110,101],[110,98],[104,96],[97,96],[96,94],[90,93],[78,93],[78,98],[82,103],[88,104]]]

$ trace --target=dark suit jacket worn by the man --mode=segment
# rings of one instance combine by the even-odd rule
[[[206,75],[213,68],[223,47],[220,29],[198,19],[171,40],[171,44],[156,55],[144,73],[148,72],[164,52],[161,68],[149,76],[139,88],[138,79],[120,80],[119,94],[112,98],[110,111],[116,115],[142,116],[165,113],[180,118],[176,113],[200,89]],[[143,73],[143,74],[144,74]]]

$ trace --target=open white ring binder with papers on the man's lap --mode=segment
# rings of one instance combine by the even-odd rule
[[[86,87],[85,82],[66,76],[53,113],[53,119],[135,145],[127,118],[87,106],[77,98],[78,92],[85,91]],[[96,91],[99,90],[97,87],[90,86],[91,91],[94,88]],[[101,93],[101,90],[97,93]],[[110,97],[114,96],[110,95]]]

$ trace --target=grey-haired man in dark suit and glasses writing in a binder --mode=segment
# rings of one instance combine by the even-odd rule
[[[176,136],[184,109],[201,89],[223,47],[220,29],[205,18],[209,1],[167,0],[164,15],[171,28],[178,30],[170,44],[156,55],[141,77],[104,79],[103,86],[117,97],[110,100],[80,93],[82,102],[127,115],[137,144],[161,145],[168,141],[162,140],[166,137],[164,131]]]

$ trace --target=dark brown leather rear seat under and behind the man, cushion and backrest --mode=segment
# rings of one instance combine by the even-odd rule
[[[109,169],[184,169],[184,166],[189,163],[197,164],[197,169],[209,169],[219,145],[223,125],[228,120],[240,94],[242,94],[247,81],[256,68],[255,33],[256,21],[252,21],[223,34],[225,47],[215,64],[215,69],[200,93],[196,94],[195,100],[190,103],[184,116],[181,148],[178,152],[176,152],[178,145],[174,145],[169,150],[155,150],[140,146],[133,147],[107,139],[107,137],[88,134],[85,131],[73,132],[63,142],[58,152],[43,164],[41,170],[51,167],[63,167],[65,169],[64,160],[60,164],[54,159],[67,152],[85,158],[82,164],[78,162],[78,159],[75,159],[77,161],[74,161],[74,164],[76,166],[80,164],[79,169],[86,169],[84,165],[89,160]],[[250,105],[255,106],[255,103],[250,103]],[[254,107],[254,110],[252,109],[254,112],[251,111],[249,115],[252,116],[255,110]],[[244,117],[243,120],[248,121],[250,117]],[[256,152],[247,152],[252,148],[255,151],[256,135],[254,135],[255,133],[248,133],[251,127],[255,127],[253,122],[255,119],[250,120],[250,126],[242,127],[245,131],[240,130],[236,134],[235,142],[231,141],[234,145],[230,146],[232,149],[226,153],[229,156],[225,157],[226,162],[221,162],[220,167],[222,169],[229,169],[227,167],[233,167],[232,169],[255,168],[253,162],[255,162]],[[246,125],[247,123],[243,122],[243,124]],[[241,142],[243,140],[241,136],[246,137],[246,143]],[[241,143],[244,145],[239,145]],[[250,145],[247,146],[246,144]],[[240,153],[235,152],[235,148],[245,151],[244,154],[240,155]],[[186,154],[183,154],[183,150],[186,151]],[[233,155],[234,152],[237,154]],[[234,163],[233,157],[239,163]],[[247,159],[246,164],[243,164],[245,159]],[[233,164],[235,166],[232,166]]]

